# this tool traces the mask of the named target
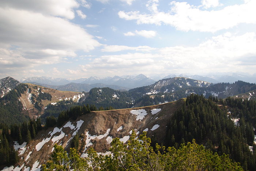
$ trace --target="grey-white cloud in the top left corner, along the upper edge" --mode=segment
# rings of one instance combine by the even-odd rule
[[[78,8],[79,4],[75,0],[1,0],[0,7],[3,9],[13,8],[31,13],[41,13],[43,15],[52,15],[74,19],[73,8]]]

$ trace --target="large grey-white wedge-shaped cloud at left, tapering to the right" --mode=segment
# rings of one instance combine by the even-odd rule
[[[0,22],[3,73],[24,73],[39,65],[65,62],[67,57],[76,57],[78,50],[89,52],[101,46],[94,36],[65,18],[9,7],[0,8]]]

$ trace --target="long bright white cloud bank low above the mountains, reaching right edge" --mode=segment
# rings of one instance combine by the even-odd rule
[[[103,55],[92,59],[87,74],[108,76],[109,74],[124,75],[127,73],[190,73],[207,74],[213,70],[236,72],[246,70],[255,73],[256,34],[225,34],[212,38],[197,46],[172,46],[151,48],[148,46],[104,46],[103,52],[128,50],[127,54]],[[142,51],[142,53],[131,53]],[[146,52],[146,53],[143,53]],[[245,62],[244,59],[247,59]],[[251,62],[249,62],[251,61]],[[107,70],[107,72],[106,72]]]

